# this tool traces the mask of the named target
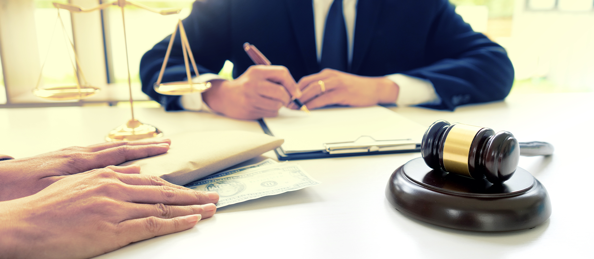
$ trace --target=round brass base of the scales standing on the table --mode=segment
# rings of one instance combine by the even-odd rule
[[[147,138],[160,138],[162,136],[163,132],[154,126],[141,123],[138,120],[129,120],[127,123],[122,124],[122,126],[110,131],[105,137],[105,140],[138,140]]]

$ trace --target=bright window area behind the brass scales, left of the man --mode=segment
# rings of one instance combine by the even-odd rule
[[[0,101],[9,105],[72,105],[78,101],[53,102],[31,94],[37,85],[41,66],[43,85],[72,83],[75,75],[69,57],[74,59],[69,43],[65,40],[62,25],[55,24],[58,9],[54,0],[5,0],[0,10],[0,55],[4,63],[4,84]],[[100,0],[70,0],[84,8],[101,4]],[[105,1],[106,2],[106,1]],[[189,14],[193,0],[140,1],[152,8],[185,8]],[[61,17],[68,37],[74,41],[81,71],[90,85],[102,91],[80,102],[114,102],[128,100],[127,67],[124,51],[121,11],[117,6],[103,11],[70,13],[61,10]],[[138,66],[140,58],[154,44],[173,31],[180,15],[160,15],[144,9],[125,8],[129,62],[131,69],[132,97],[149,100],[141,92]],[[182,14],[184,15],[184,14]],[[12,37],[19,35],[20,37]],[[104,37],[105,36],[105,37]],[[47,57],[47,59],[46,59]],[[6,64],[10,63],[11,66]],[[112,83],[112,84],[109,84]],[[5,96],[8,93],[8,96]],[[0,103],[0,104],[2,104]],[[78,105],[78,104],[76,104]]]

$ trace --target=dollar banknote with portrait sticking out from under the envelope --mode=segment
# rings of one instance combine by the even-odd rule
[[[224,207],[318,184],[320,182],[309,176],[299,165],[283,162],[244,168],[220,177],[194,181],[185,187],[201,191],[216,191],[220,197],[216,206]]]

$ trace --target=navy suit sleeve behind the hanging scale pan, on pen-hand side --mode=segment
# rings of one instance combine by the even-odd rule
[[[198,73],[218,73],[223,68],[225,60],[229,59],[230,19],[228,9],[229,3],[227,0],[196,1],[191,14],[182,21],[190,48],[194,53]],[[183,110],[180,105],[180,96],[162,95],[153,89],[153,84],[157,81],[165,59],[170,37],[166,37],[144,54],[140,61],[140,79],[143,92],[163,105],[165,110]],[[192,76],[195,76],[193,69],[190,70]],[[173,41],[162,82],[185,80],[187,80],[187,74],[178,31]]]

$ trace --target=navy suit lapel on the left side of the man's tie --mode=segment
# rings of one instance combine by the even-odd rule
[[[315,54],[314,10],[311,0],[286,0],[293,33],[309,74],[320,71]]]

